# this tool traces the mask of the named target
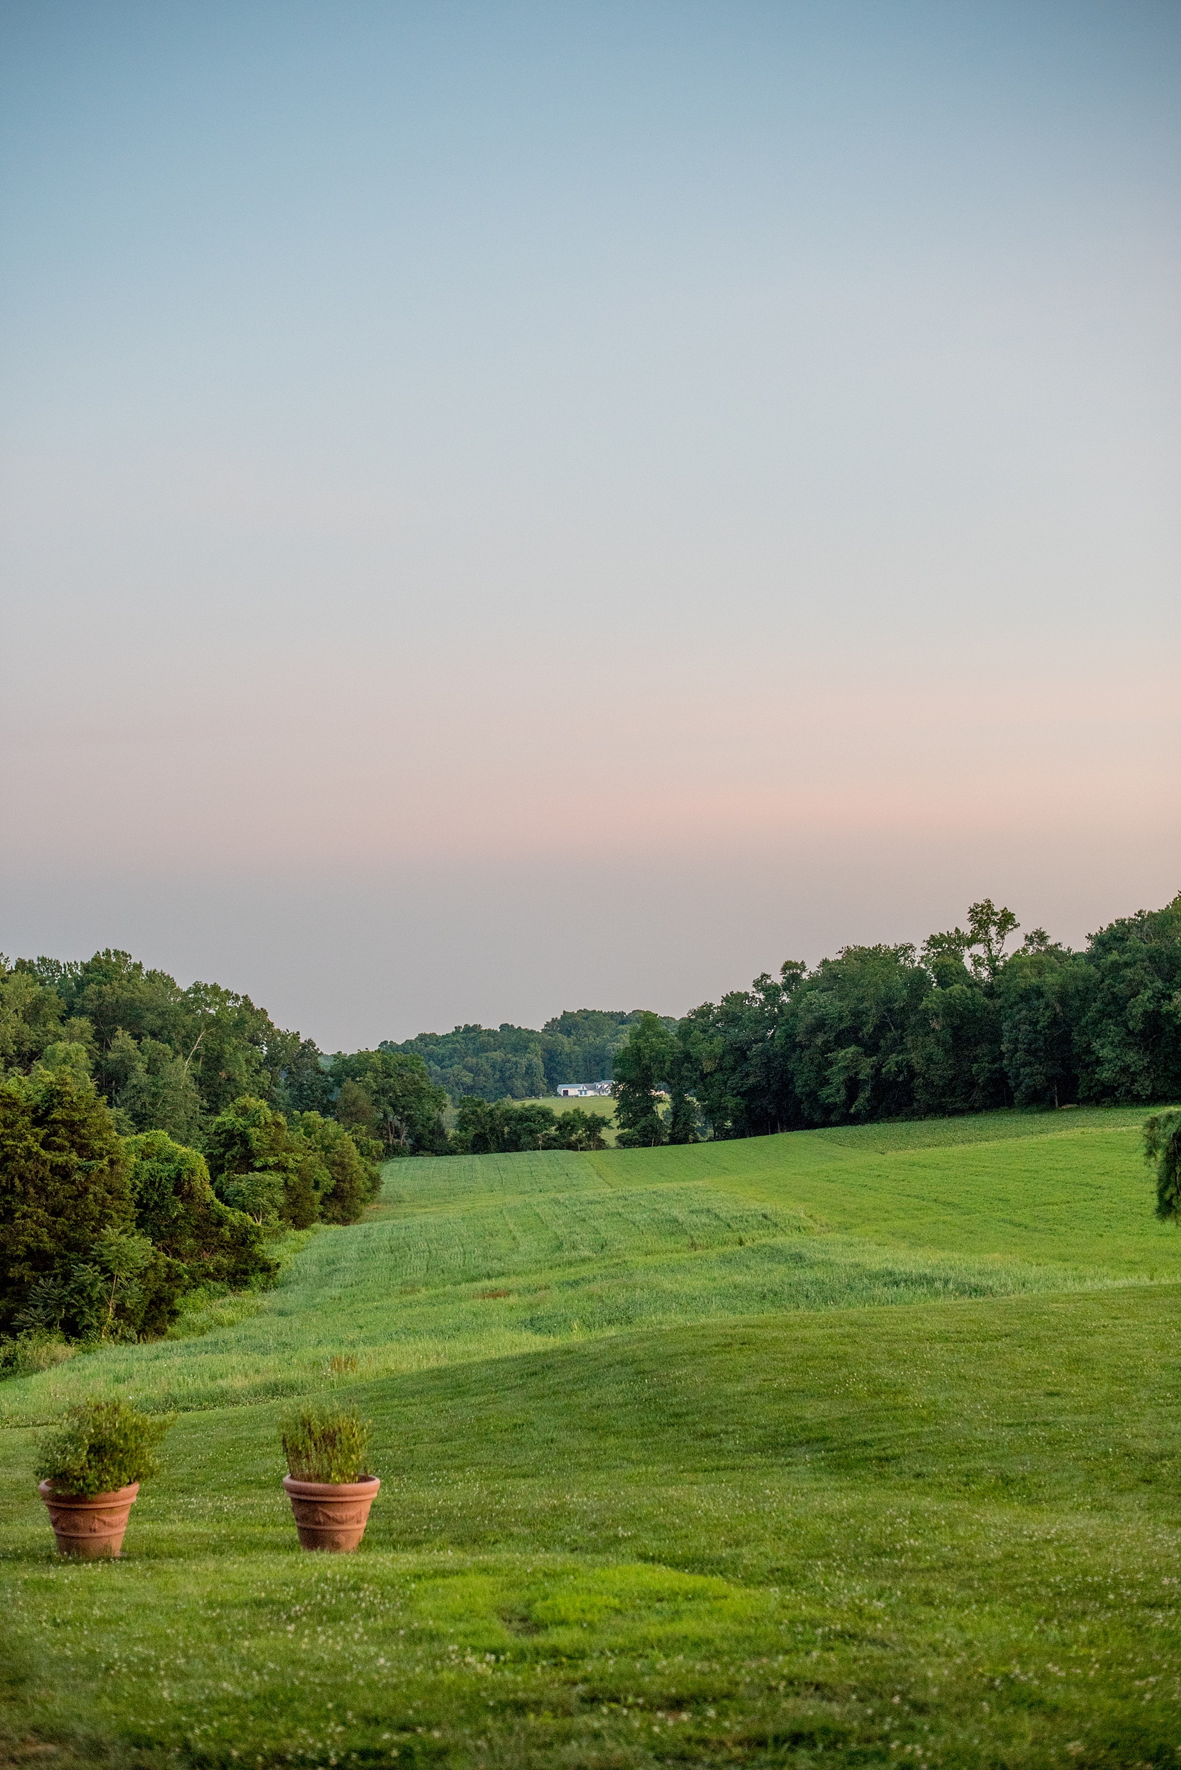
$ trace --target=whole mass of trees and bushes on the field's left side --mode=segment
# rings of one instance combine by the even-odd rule
[[[446,1147],[444,1106],[415,1058],[329,1062],[126,952],[0,959],[0,1372],[269,1281],[263,1235],[355,1221],[377,1156]]]

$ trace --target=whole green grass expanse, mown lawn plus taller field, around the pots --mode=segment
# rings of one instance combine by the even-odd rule
[[[1140,1117],[394,1163],[202,1335],[2,1384],[9,1759],[1177,1765]],[[60,1563],[34,1428],[103,1391],[166,1469]],[[355,1558],[278,1485],[311,1391],[377,1425]]]

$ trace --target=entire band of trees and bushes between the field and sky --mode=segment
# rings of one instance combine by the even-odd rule
[[[983,899],[921,949],[789,959],[681,1020],[559,1016],[569,1044],[550,1055],[569,1080],[580,1039],[589,1069],[610,1055],[624,1145],[1181,1099],[1181,896],[1082,952],[1043,929],[1010,950],[1017,933]],[[446,1035],[456,1062],[477,1034]],[[382,1158],[603,1147],[605,1117],[472,1080],[469,1062],[449,1112],[419,1050],[327,1057],[248,997],[126,952],[0,959],[0,1338],[163,1333],[193,1292],[267,1283],[276,1232],[355,1221]],[[1162,1214],[1177,1124],[1149,1124]]]

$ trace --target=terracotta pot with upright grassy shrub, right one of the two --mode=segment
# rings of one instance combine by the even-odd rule
[[[301,1407],[281,1421],[279,1439],[301,1547],[348,1554],[364,1536],[382,1485],[364,1467],[368,1423],[354,1409]]]

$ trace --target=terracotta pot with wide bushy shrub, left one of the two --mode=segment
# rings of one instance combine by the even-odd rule
[[[58,1554],[117,1556],[140,1481],[156,1474],[152,1451],[171,1414],[141,1414],[127,1402],[83,1402],[41,1441],[37,1474]]]

